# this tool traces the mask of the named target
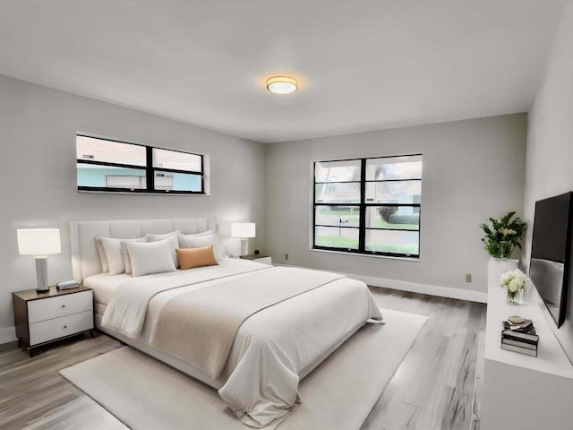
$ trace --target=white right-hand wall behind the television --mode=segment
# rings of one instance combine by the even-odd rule
[[[573,191],[573,3],[569,2],[553,43],[543,82],[529,113],[525,219],[533,225],[535,202]],[[524,261],[531,255],[527,233]],[[573,274],[569,275],[567,321],[555,333],[573,360]]]

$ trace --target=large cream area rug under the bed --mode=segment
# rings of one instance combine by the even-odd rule
[[[300,383],[293,412],[265,429],[358,430],[427,317],[381,309]],[[60,371],[133,430],[246,430],[215,389],[124,347]]]

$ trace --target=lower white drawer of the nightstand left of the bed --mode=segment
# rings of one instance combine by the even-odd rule
[[[93,329],[91,310],[39,323],[30,323],[30,346],[90,329]]]

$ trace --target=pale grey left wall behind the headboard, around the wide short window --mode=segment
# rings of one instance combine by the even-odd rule
[[[211,195],[78,193],[76,131],[209,154]],[[264,157],[261,143],[0,76],[0,344],[14,339],[11,291],[36,288],[16,228],[61,228],[63,253],[48,257],[52,283],[72,278],[70,219],[215,215],[256,222],[251,249],[262,247]]]

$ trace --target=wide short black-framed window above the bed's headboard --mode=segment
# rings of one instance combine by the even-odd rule
[[[76,135],[79,191],[204,194],[204,157]]]

